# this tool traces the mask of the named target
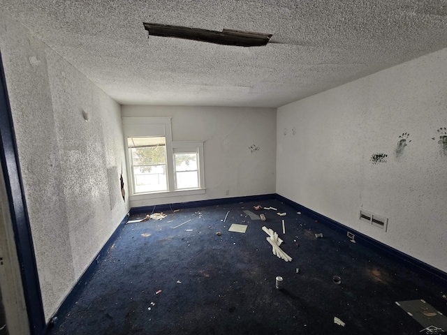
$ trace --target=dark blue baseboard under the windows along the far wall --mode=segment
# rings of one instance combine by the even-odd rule
[[[233,204],[235,202],[262,201],[276,198],[277,194],[271,193],[261,195],[247,195],[244,197],[234,197],[234,198],[220,198],[220,199],[198,200],[190,202],[175,202],[173,204],[154,204],[152,206],[132,207],[129,214],[134,215],[142,213],[152,213],[152,211],[168,211],[170,209],[217,206],[218,204]]]

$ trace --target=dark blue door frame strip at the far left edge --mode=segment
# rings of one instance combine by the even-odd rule
[[[24,299],[31,334],[42,334],[45,329],[41,285],[38,279],[36,256],[31,236],[22,174],[17,154],[13,117],[10,110],[6,77],[0,50],[0,161],[8,196],[10,221],[13,226],[17,258],[22,275]]]

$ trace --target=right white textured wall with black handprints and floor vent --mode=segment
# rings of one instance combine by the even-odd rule
[[[446,91],[444,49],[280,107],[277,193],[447,271]]]

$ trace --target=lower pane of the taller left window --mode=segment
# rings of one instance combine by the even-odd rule
[[[135,193],[166,191],[166,165],[140,166],[133,168]]]

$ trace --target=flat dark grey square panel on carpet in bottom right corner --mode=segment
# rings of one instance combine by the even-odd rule
[[[425,329],[425,334],[441,334],[447,330],[447,318],[423,299],[395,301],[408,315],[420,323]],[[434,328],[430,328],[434,327]],[[437,330],[432,330],[437,329]],[[443,330],[444,329],[444,330]],[[423,332],[421,331],[421,332]]]

